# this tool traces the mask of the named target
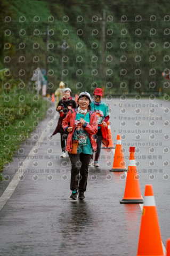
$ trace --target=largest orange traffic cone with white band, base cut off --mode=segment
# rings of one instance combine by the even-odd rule
[[[164,256],[152,185],[145,186],[141,228],[136,256]]]

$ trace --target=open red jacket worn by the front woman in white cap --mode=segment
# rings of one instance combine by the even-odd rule
[[[67,138],[67,145],[66,145],[66,150],[71,151],[72,148],[72,135],[75,130],[75,119],[76,119],[76,114],[77,114],[77,108],[70,109],[67,116],[63,119],[62,121],[62,127],[66,131],[69,126],[73,127],[72,132],[69,132],[68,138]],[[90,134],[90,140],[92,143],[92,148],[94,151],[96,151],[97,144],[95,142],[95,139],[93,138],[93,135],[98,132],[98,120],[97,116],[95,113],[93,113],[91,110],[89,110],[90,114],[90,124],[85,122],[83,125],[83,128]]]

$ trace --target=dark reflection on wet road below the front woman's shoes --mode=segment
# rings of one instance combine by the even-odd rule
[[[86,248],[93,222],[87,201],[70,200],[68,203],[67,212],[59,219],[62,236],[59,252],[62,255],[68,255],[69,250],[76,253],[77,247]]]

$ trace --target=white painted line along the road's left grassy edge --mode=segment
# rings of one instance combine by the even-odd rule
[[[51,122],[53,120],[56,119],[56,116],[58,115],[58,113],[55,114],[54,118],[51,119],[48,122]],[[46,127],[45,130],[43,131],[41,137],[39,138],[39,140],[36,142],[36,145],[31,148],[28,156],[33,155],[33,150],[34,148],[39,148],[41,147],[41,143],[43,142],[44,138],[46,137],[46,134],[49,132],[48,130],[50,130],[51,127]],[[50,134],[50,133],[49,133]],[[31,159],[25,159],[24,163],[24,167],[25,169],[27,169],[27,166],[29,165]],[[23,169],[21,169],[21,167],[18,169],[18,171],[14,174],[10,184],[7,186],[7,188],[5,189],[4,193],[2,194],[2,196],[0,197],[0,211],[2,210],[3,206],[6,204],[6,202],[10,199],[10,197],[12,196],[15,188],[17,188],[17,185],[19,183],[19,181],[21,180],[20,177],[23,174]]]

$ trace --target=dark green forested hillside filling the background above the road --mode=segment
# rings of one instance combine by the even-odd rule
[[[3,6],[1,17],[9,18],[0,35],[1,67],[16,78],[28,83],[39,67],[48,70],[50,93],[62,77],[74,92],[167,90],[161,76],[170,60],[167,1],[5,0]]]

